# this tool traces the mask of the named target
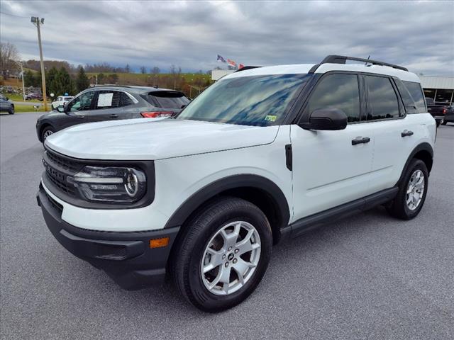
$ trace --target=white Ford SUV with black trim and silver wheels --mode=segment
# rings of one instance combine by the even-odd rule
[[[121,287],[168,273],[216,312],[253,292],[285,237],[375,205],[418,215],[435,139],[403,67],[245,67],[176,117],[48,137],[38,204],[58,241]]]

